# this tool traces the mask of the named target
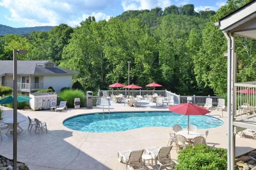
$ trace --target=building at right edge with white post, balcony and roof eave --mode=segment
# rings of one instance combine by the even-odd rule
[[[228,170],[233,170],[236,135],[244,129],[256,131],[256,75],[253,82],[237,82],[235,45],[236,36],[256,39],[256,1],[221,18],[215,25],[227,38]]]

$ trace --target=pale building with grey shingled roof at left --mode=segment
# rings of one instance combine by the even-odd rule
[[[62,87],[72,86],[75,71],[60,68],[51,61],[17,61],[17,90],[32,92],[53,87],[59,91]],[[13,87],[13,61],[0,61],[0,86]]]

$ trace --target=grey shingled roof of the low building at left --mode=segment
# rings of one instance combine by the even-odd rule
[[[18,75],[48,75],[48,74],[76,74],[77,72],[66,68],[55,66],[54,68],[46,68],[44,64],[49,63],[46,60],[17,61],[17,74]],[[0,60],[0,75],[13,74],[13,61]]]

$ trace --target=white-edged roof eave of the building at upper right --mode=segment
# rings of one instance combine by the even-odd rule
[[[253,0],[216,23],[223,32],[256,39],[256,1]]]

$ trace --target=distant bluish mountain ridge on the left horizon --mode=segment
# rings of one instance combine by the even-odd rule
[[[0,36],[5,34],[28,34],[32,31],[49,31],[53,26],[13,28],[0,24]]]

